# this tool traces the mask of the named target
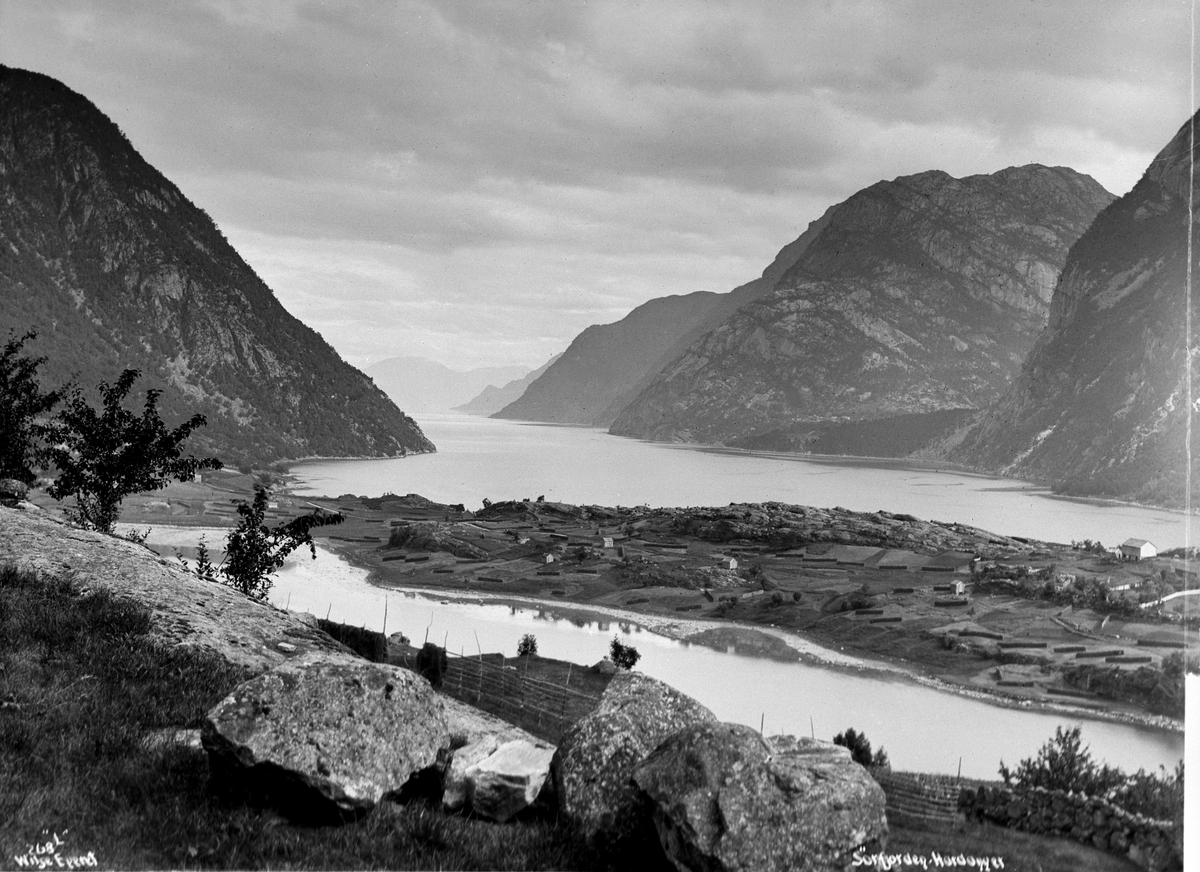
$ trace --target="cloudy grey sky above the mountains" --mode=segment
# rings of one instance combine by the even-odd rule
[[[1124,193],[1190,109],[1192,0],[0,0],[352,363],[545,361],[730,290],[881,179]]]

